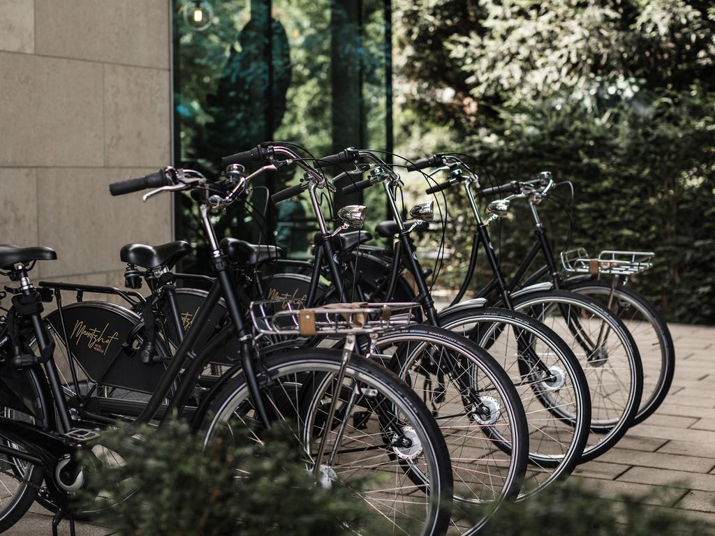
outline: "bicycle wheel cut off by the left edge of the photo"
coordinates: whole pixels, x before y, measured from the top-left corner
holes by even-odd
[[[6,362],[1,367],[10,366]],[[6,371],[2,370],[1,372],[3,372],[3,377],[6,379],[6,374],[4,374]],[[29,379],[31,381],[27,386],[34,386],[31,388],[37,389],[36,392],[39,392],[38,380],[34,372],[14,370],[11,373],[13,372],[14,374],[30,374]],[[35,398],[35,400],[41,399],[43,397],[40,397],[39,394]],[[6,419],[31,422],[38,426],[42,426],[44,422],[41,417],[35,417],[9,407],[1,407],[0,411],[2,412],[1,416]],[[43,411],[39,415],[46,415],[46,413]],[[18,450],[28,450],[22,445],[19,438],[11,437],[11,435],[4,433],[1,427],[0,445]],[[6,454],[0,454],[0,532],[8,530],[25,515],[25,512],[27,512],[37,496],[43,475],[44,470],[39,465],[18,460]]]

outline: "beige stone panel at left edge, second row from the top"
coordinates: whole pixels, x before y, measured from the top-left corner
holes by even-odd
[[[101,166],[102,66],[0,52],[0,167]]]

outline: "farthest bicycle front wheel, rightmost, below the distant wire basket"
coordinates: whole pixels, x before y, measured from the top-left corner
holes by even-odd
[[[643,397],[631,426],[644,422],[663,403],[675,374],[675,345],[667,322],[642,294],[623,285],[613,289],[612,297],[611,282],[599,279],[566,281],[566,289],[598,300],[631,332],[643,362]]]

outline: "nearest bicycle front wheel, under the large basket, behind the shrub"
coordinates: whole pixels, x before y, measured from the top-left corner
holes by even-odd
[[[264,391],[268,407],[294,427],[306,468],[319,467],[324,485],[339,480],[348,487],[353,482],[367,486],[356,497],[375,513],[370,526],[374,522],[379,528],[371,533],[443,534],[452,473],[433,417],[395,374],[363,357],[350,359],[337,386],[340,362],[341,352],[332,349],[292,350],[262,359],[271,386]],[[328,425],[332,402],[337,412]],[[212,415],[204,423],[207,440],[222,426],[233,435],[260,440],[252,432],[254,410],[243,374],[217,394],[207,415]]]

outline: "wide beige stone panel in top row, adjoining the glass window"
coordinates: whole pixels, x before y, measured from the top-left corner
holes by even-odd
[[[36,52],[169,69],[167,0],[35,0]]]

